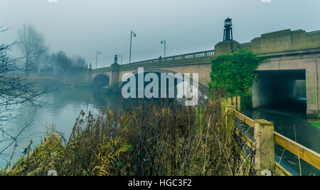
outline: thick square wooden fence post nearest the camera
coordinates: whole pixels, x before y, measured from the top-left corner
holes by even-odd
[[[264,119],[255,120],[255,167],[258,175],[268,169],[274,174],[274,125]]]

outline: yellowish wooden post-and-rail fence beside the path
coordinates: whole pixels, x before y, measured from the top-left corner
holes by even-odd
[[[255,155],[255,168],[262,172],[268,169],[272,174],[289,175],[292,174],[274,160],[274,143],[284,147],[289,152],[311,164],[312,166],[320,169],[320,155],[313,150],[310,150],[299,143],[284,137],[283,135],[274,132],[274,124],[269,121],[256,119],[253,120],[242,113],[240,113],[240,97],[227,98],[222,101],[222,109],[226,117],[226,123],[233,125],[235,128],[234,120],[238,118],[242,123],[247,124],[254,130],[254,139],[245,138],[245,143],[248,147],[254,148]],[[233,121],[233,122],[232,122]],[[228,128],[232,128],[228,126]]]

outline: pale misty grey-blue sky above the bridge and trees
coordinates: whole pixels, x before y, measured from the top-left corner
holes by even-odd
[[[82,55],[98,67],[115,54],[129,62],[213,50],[223,38],[223,21],[233,18],[233,37],[248,42],[262,33],[291,28],[320,30],[319,0],[0,0],[0,43],[17,40],[23,23],[44,35],[50,52]]]

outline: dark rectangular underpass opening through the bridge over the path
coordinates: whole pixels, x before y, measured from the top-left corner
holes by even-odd
[[[306,116],[306,71],[259,71],[252,85],[252,107]]]

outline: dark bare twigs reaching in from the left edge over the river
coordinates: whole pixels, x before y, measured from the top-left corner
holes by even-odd
[[[0,27],[1,31],[4,30]],[[13,133],[4,123],[14,118],[13,113],[21,108],[29,108],[32,114],[45,104],[41,96],[52,91],[44,85],[30,82],[23,77],[23,69],[17,66],[16,59],[8,53],[11,47],[17,44],[0,45],[0,143],[6,142],[6,145],[0,146],[0,158],[11,145],[17,143],[21,133],[31,125],[28,123],[18,133]]]

